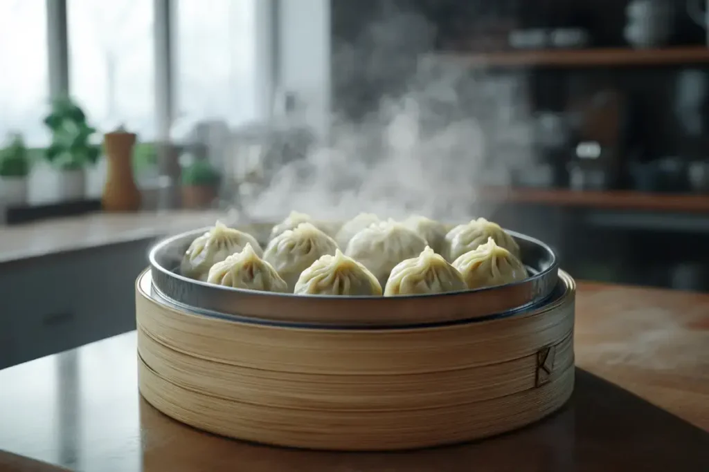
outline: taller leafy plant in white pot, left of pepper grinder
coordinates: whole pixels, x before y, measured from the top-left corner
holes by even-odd
[[[57,171],[57,200],[81,200],[86,193],[86,167],[101,154],[100,146],[91,143],[96,129],[70,98],[54,100],[44,123],[52,132],[45,158]]]

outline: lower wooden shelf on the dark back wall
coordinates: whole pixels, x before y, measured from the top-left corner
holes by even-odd
[[[703,213],[709,215],[709,195],[682,195],[630,190],[581,191],[486,188],[483,200],[518,204],[555,205],[647,212]]]

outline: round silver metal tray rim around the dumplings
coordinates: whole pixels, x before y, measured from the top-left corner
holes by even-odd
[[[234,225],[267,241],[272,223]],[[418,327],[438,323],[484,321],[512,316],[552,297],[559,279],[557,257],[549,246],[508,231],[520,246],[530,274],[523,282],[446,294],[400,297],[335,297],[277,294],[234,289],[191,280],[179,274],[182,255],[208,228],[164,239],[150,251],[152,295],[181,311],[234,321],[323,328]],[[265,246],[265,245],[264,245]]]

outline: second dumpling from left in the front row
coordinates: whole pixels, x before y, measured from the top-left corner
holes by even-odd
[[[303,270],[294,293],[299,295],[381,296],[381,285],[367,267],[337,249]]]

